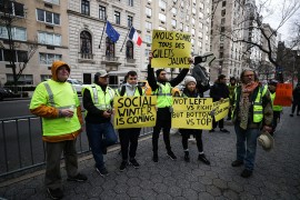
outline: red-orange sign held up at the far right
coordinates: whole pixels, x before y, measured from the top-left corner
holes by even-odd
[[[274,106],[290,107],[292,100],[292,84],[278,83],[276,87]]]

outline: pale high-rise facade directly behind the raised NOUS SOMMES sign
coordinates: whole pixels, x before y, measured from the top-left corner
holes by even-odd
[[[191,33],[191,56],[210,51],[211,0],[144,0],[141,8],[143,77],[147,77],[153,29]],[[173,77],[179,69],[167,71]]]

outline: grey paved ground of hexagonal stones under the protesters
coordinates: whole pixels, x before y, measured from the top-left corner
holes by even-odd
[[[300,117],[290,118],[286,110],[276,134],[276,148],[266,152],[258,147],[256,170],[249,179],[240,177],[242,167],[230,166],[236,156],[236,136],[232,126],[227,128],[230,134],[203,133],[210,167],[197,160],[196,144],[191,143],[191,162],[186,163],[179,136],[171,138],[178,160],[167,158],[160,140],[160,160],[153,163],[148,139],[138,149],[138,170],[130,167],[119,172],[117,150],[107,156],[110,174],[106,178],[94,171],[90,157],[79,164],[88,174],[87,182],[68,182],[63,171],[64,199],[300,199]],[[49,199],[43,174],[37,174],[0,188],[0,199]]]

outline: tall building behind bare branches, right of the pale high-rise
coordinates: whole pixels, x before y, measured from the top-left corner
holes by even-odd
[[[217,59],[210,70],[211,80],[220,73],[239,77],[243,69],[244,0],[213,0],[211,48]]]

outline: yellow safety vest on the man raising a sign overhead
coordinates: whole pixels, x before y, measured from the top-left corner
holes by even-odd
[[[154,96],[158,97],[158,108],[166,108],[172,106],[172,87],[170,82],[166,82],[166,84],[159,83],[159,88],[153,92]]]

